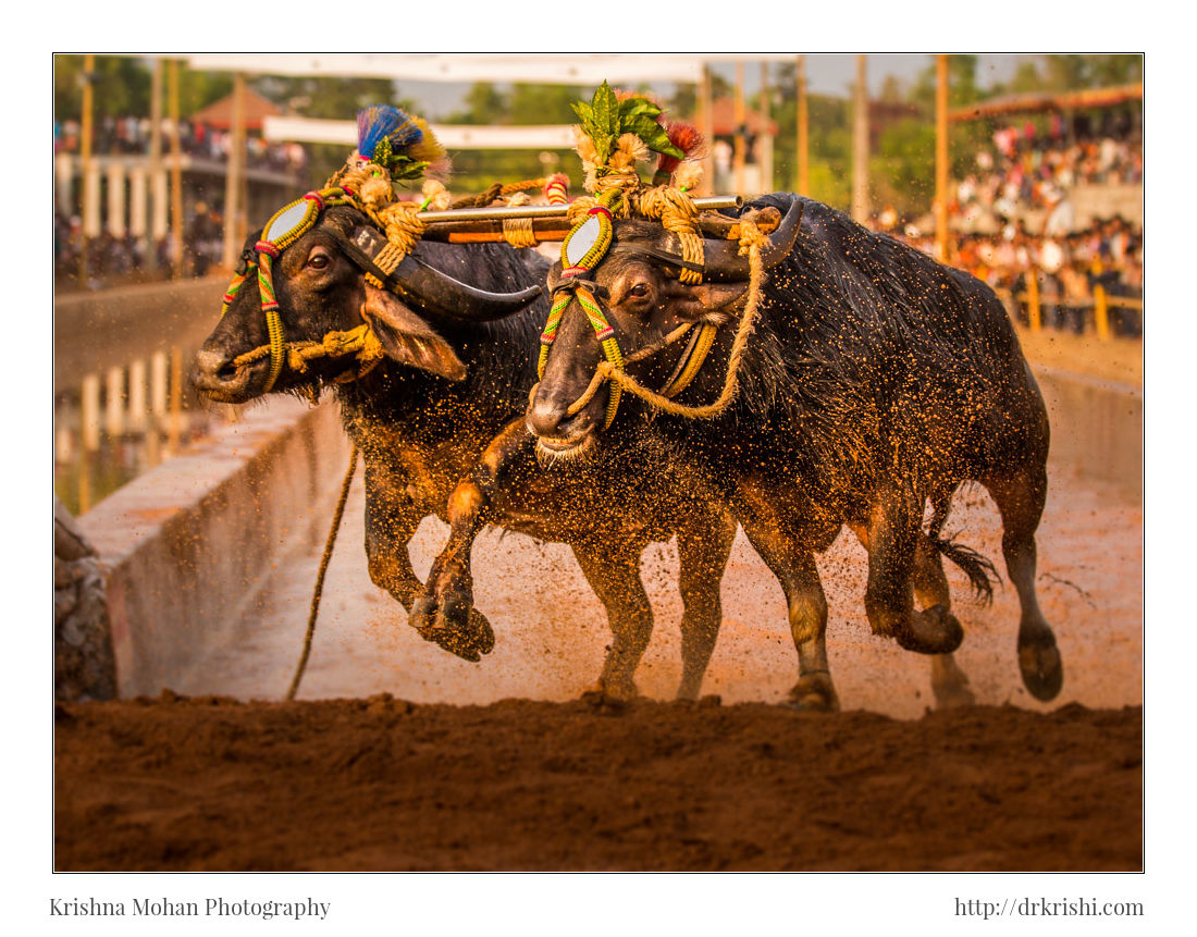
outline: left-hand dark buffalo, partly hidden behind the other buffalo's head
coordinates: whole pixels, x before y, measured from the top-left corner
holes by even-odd
[[[493,634],[473,609],[468,550],[438,560],[454,590],[430,601],[421,598],[407,543],[424,517],[452,522],[472,498],[485,495],[486,511],[473,512],[478,522],[572,547],[606,606],[614,638],[600,688],[630,695],[652,629],[640,554],[649,542],[676,534],[685,603],[679,695],[697,696],[721,621],[719,583],[735,522],[693,498],[676,475],[639,471],[643,456],[632,450],[582,473],[540,470],[523,410],[547,311],[540,288],[546,260],[506,245],[424,242],[395,272],[390,288],[381,290],[367,282],[360,261],[351,260],[353,245],[370,242],[372,231],[354,208],[328,208],[274,261],[273,280],[293,347],[367,322],[387,357],[360,376],[342,358],[312,357],[303,370],[288,363],[272,390],[335,389],[345,428],[365,463],[365,548],[373,582],[405,608],[415,607],[425,638],[479,659],[493,646]],[[247,242],[250,256],[254,241]],[[529,291],[541,298],[529,304]],[[196,388],[230,403],[259,396],[269,363],[235,359],[267,341],[260,291],[247,280],[196,355]],[[499,463],[496,486],[487,468]]]

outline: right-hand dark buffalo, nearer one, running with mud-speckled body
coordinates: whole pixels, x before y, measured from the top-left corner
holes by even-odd
[[[827,604],[813,554],[843,523],[869,553],[873,631],[922,652],[959,645],[942,565],[920,554],[930,544],[988,588],[980,558],[940,535],[953,493],[974,480],[1002,516],[1002,549],[1022,607],[1023,681],[1035,698],[1053,698],[1061,659],[1034,589],[1047,416],[1001,303],[968,274],[819,202],[774,194],[746,208],[784,218],[762,250],[767,275],[739,393],[713,419],[657,413],[649,425],[672,448],[674,464],[699,471],[718,492],[780,579],[800,657],[796,694],[834,699],[824,646]],[[674,236],[660,225],[618,221],[591,279],[625,355],[686,322],[725,323],[698,379],[678,398],[703,404],[723,388],[749,264],[735,243],[707,239],[703,282],[686,285],[676,276],[680,261]],[[560,279],[558,264],[549,286]],[[680,343],[670,346],[628,372],[661,387],[680,354]],[[573,302],[527,412],[545,452],[595,449],[607,394],[569,410],[600,360],[594,329]],[[637,410],[621,404],[612,431]],[[932,519],[923,535],[928,503]]]

